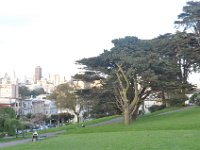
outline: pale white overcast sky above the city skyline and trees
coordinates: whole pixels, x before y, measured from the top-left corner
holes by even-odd
[[[174,33],[187,0],[0,0],[0,74],[68,78],[74,61],[97,56],[124,36]]]

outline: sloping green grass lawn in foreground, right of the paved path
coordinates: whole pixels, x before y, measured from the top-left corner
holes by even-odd
[[[126,127],[66,127],[58,137],[2,150],[199,150],[200,107],[163,110],[139,117]]]

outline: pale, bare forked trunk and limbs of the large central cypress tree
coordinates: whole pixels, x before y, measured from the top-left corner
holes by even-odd
[[[151,91],[146,87],[142,88],[137,81],[137,76],[134,76],[134,97],[132,100],[128,99],[128,89],[132,87],[130,87],[129,80],[120,65],[118,65],[118,71],[116,75],[120,85],[120,88],[116,90],[118,92],[116,96],[118,97],[118,106],[120,106],[120,109],[123,112],[124,124],[129,125],[131,122],[136,120],[139,107],[144,102],[144,99],[149,96]]]

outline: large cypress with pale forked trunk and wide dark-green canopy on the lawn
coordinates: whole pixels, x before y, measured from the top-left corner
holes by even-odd
[[[156,69],[161,61],[149,41],[125,37],[112,43],[114,47],[110,51],[78,62],[116,79],[113,91],[128,125],[136,119],[139,107],[156,85],[159,74]]]

